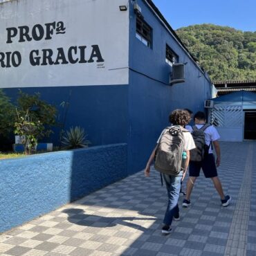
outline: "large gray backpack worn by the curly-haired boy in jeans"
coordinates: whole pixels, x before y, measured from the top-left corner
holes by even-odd
[[[188,131],[181,126],[165,128],[156,148],[155,169],[163,174],[177,175],[181,172],[182,154],[184,151],[183,132]]]

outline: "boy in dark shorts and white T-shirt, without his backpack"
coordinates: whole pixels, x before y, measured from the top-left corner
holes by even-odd
[[[194,129],[202,129],[205,125],[206,118],[205,113],[202,111],[198,111],[194,115],[194,123],[195,126]],[[193,131],[192,127],[187,126],[186,129]],[[186,198],[183,200],[183,207],[187,208],[191,205],[190,203],[190,195],[192,193],[192,189],[194,187],[194,183],[196,182],[196,178],[199,176],[200,170],[202,168],[203,174],[205,178],[212,179],[212,183],[214,184],[215,189],[219,193],[219,196],[221,197],[221,204],[222,206],[228,206],[231,197],[229,195],[226,195],[223,193],[223,188],[221,185],[221,181],[219,180],[218,174],[217,174],[217,167],[219,167],[221,163],[221,149],[219,147],[219,134],[215,127],[210,125],[204,130],[205,134],[205,144],[208,145],[209,151],[206,152],[204,155],[203,161],[201,162],[195,162],[190,161],[190,168],[189,168],[189,179],[187,181],[187,190],[186,190]],[[217,154],[217,158],[215,161],[212,145],[214,146],[215,152]],[[208,153],[208,154],[207,154]]]

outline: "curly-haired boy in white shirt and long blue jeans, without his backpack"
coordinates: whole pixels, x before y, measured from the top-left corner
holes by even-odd
[[[194,140],[190,134],[190,132],[186,132],[183,127],[190,122],[190,114],[188,111],[183,109],[176,109],[172,111],[169,116],[170,123],[172,127],[176,127],[176,129],[180,129],[183,134],[184,139],[184,152],[187,155],[184,170],[179,170],[177,174],[169,175],[163,173],[163,179],[165,180],[165,185],[167,188],[167,196],[168,196],[168,204],[165,212],[165,218],[163,220],[163,234],[169,234],[172,231],[171,224],[172,219],[179,220],[179,192],[181,190],[181,181],[184,179],[186,171],[188,169],[188,163],[190,161],[190,149],[195,148]],[[168,127],[168,130],[172,129],[172,127]],[[161,137],[167,129],[164,129],[161,133],[161,136],[158,138],[157,143],[161,140]],[[147,161],[147,165],[145,167],[145,176],[149,176],[150,173],[150,165],[154,160],[156,155],[156,150],[158,149],[158,145],[153,149],[152,154],[149,157],[149,161]],[[168,149],[171,150],[171,147]]]

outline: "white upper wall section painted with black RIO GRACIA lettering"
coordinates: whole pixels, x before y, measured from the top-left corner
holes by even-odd
[[[120,5],[126,4],[127,0],[19,0],[0,3],[0,88],[128,84],[129,11],[119,10]],[[46,39],[44,24],[54,21],[56,27],[57,22],[63,22],[65,29],[61,32],[64,33],[56,34],[53,30],[51,39]],[[44,37],[38,41],[19,42],[19,30],[26,30],[19,27],[28,26],[28,37],[31,37],[37,24],[44,29]],[[39,26],[35,26],[34,32],[40,37],[43,34],[39,33]],[[7,28],[10,35],[14,35],[17,29],[17,35],[8,40]],[[21,41],[22,38],[26,39],[21,37]],[[92,52],[96,55],[92,45],[98,46],[104,61],[97,62],[98,57],[93,57],[91,63],[77,61],[71,64],[68,61],[71,46],[86,46],[84,60],[88,61]],[[61,64],[63,53],[57,48],[63,48],[68,64]],[[42,49],[53,51],[51,60],[55,64],[47,62],[47,65],[42,65]],[[33,53],[34,57],[41,57],[40,64],[36,66],[30,61],[33,50],[39,51],[38,55]],[[71,48],[70,53],[73,60],[77,57],[81,60],[80,54],[75,54],[75,48]],[[58,54],[60,64],[56,62]],[[15,67],[10,62],[8,66],[8,56],[16,66],[19,65]],[[37,60],[34,57],[32,62]]]

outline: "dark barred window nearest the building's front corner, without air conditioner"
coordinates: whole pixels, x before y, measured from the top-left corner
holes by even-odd
[[[136,37],[145,44],[152,47],[152,28],[140,17],[136,17]]]

